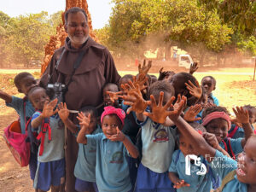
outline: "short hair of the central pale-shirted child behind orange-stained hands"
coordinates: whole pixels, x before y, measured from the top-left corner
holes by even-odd
[[[148,98],[150,95],[159,95],[160,91],[163,91],[164,93],[170,93],[172,96],[175,95],[175,90],[168,81],[156,81],[154,84],[151,84],[148,89]]]

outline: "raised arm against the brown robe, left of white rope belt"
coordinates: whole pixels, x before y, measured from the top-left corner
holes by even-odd
[[[67,129],[73,133],[77,133],[79,131],[79,128],[70,119],[68,119],[69,110],[67,109],[66,102],[64,102],[64,104],[61,102],[58,105],[58,109],[58,114],[64,125],[67,126]]]

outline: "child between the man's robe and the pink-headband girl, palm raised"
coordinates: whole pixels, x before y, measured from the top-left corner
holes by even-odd
[[[73,132],[76,136],[79,133],[79,127],[74,125],[73,122],[68,119],[69,110],[66,103],[60,103],[58,105],[59,115],[63,123],[67,128]],[[90,115],[90,122],[88,125],[88,134],[96,135],[102,132],[102,129],[96,123],[97,110],[94,107],[84,107],[80,110],[78,119],[83,121],[85,116]],[[89,144],[84,145],[79,143],[78,159],[74,168],[74,176],[76,177],[75,189],[79,192],[90,191],[91,186],[94,187],[96,192],[98,191],[96,186],[96,146]]]

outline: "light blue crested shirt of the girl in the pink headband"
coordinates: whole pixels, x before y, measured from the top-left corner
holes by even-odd
[[[131,190],[128,151],[122,142],[112,142],[103,133],[86,135],[87,144],[96,146],[96,183],[99,191]]]

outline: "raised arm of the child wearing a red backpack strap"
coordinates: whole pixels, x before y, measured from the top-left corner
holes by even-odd
[[[31,122],[32,128],[38,128],[38,126],[42,124],[44,118],[49,118],[50,116],[58,112],[58,109],[54,110],[57,102],[58,100],[57,98],[55,98],[55,100],[51,102],[44,103],[43,112],[40,113],[40,115],[37,118],[32,119],[32,122]]]

